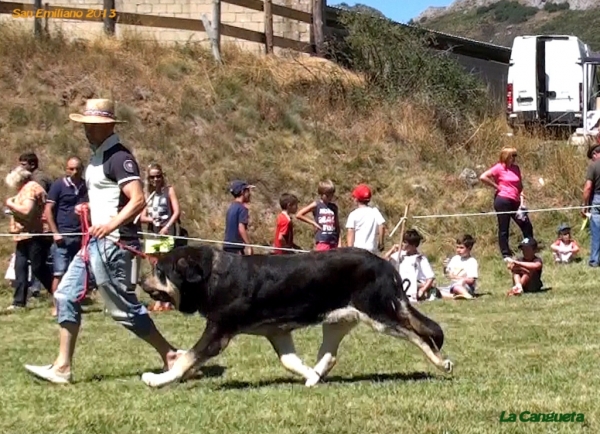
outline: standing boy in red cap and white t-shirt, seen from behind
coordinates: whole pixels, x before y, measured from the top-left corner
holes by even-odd
[[[365,184],[352,191],[356,208],[346,222],[346,242],[348,247],[358,247],[377,254],[383,250],[385,219],[377,208],[369,206],[371,189]]]

